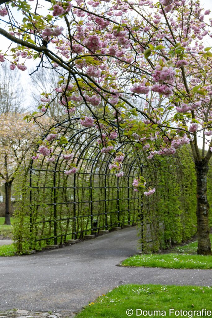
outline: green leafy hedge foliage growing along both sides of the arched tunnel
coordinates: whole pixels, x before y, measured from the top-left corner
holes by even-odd
[[[89,156],[89,153],[88,153]],[[196,176],[194,163],[189,147],[182,147],[174,156],[157,156],[153,160],[145,160],[143,157],[143,175],[148,181],[148,186],[156,188],[154,195],[146,197],[141,193],[132,191],[131,184],[135,171],[131,171],[128,178],[120,178],[119,186],[123,187],[119,192],[119,220],[117,214],[117,178],[107,176],[106,191],[108,202],[105,203],[104,176],[93,176],[93,184],[100,185],[100,189],[93,189],[93,200],[101,199],[101,202],[93,204],[93,218],[97,218],[98,226],[105,229],[105,204],[108,215],[108,229],[113,226],[132,224],[138,220],[140,233],[140,243],[144,252],[158,251],[169,246],[190,239],[196,233]],[[48,165],[45,166],[48,170]],[[73,200],[72,176],[67,178],[64,175],[64,167],[61,163],[58,173],[57,185],[64,187],[56,191],[57,203],[70,202]],[[81,169],[87,169],[82,164]],[[100,162],[96,171],[102,171]],[[89,169],[88,169],[89,171]],[[208,177],[208,197],[212,203],[212,165],[209,169]],[[29,197],[29,174],[28,171],[21,172],[16,181],[16,212],[14,215],[14,239],[18,253],[26,253],[30,249],[41,250],[45,245],[53,244],[53,202],[54,192],[52,187],[52,172],[33,172],[32,184],[38,188],[32,191],[32,205]],[[90,200],[90,177],[88,175],[78,175],[77,179],[77,200]],[[130,200],[127,200],[127,185],[130,183]],[[49,186],[43,189],[42,186]],[[82,189],[81,189],[82,187]],[[87,187],[84,189],[83,187]],[[138,199],[135,199],[136,196]],[[128,205],[129,204],[129,205]],[[143,204],[143,206],[142,206]],[[61,204],[57,207],[57,236],[58,244],[64,243],[67,239],[74,238],[73,227],[73,205]],[[128,209],[130,208],[130,222]],[[32,212],[30,230],[30,211]],[[102,215],[95,216],[103,212]],[[90,203],[77,204],[76,230],[77,238],[83,238],[85,234],[91,233],[90,226]],[[87,218],[85,216],[88,216]],[[83,218],[82,218],[83,216]],[[212,217],[210,212],[210,225]],[[80,232],[86,231],[86,232]],[[45,240],[45,237],[51,239]],[[39,239],[41,239],[39,241]]]

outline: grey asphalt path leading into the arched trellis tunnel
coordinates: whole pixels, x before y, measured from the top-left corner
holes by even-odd
[[[0,311],[79,311],[127,283],[212,285],[212,270],[116,266],[136,254],[136,228],[37,254],[0,257]]]

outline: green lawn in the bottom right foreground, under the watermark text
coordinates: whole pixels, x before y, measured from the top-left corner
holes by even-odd
[[[161,315],[156,313],[151,315],[151,311],[154,310],[165,311],[166,316],[169,316],[170,308],[187,311],[204,308],[211,310],[211,295],[212,287],[122,285],[90,303],[76,315],[76,318],[123,318],[127,317],[126,311],[129,308],[133,310],[131,317],[136,317],[137,308],[150,311],[150,315],[143,313],[140,317],[160,317]],[[129,313],[132,312],[129,311]],[[140,313],[139,310],[138,314]],[[170,317],[176,317],[176,315],[171,313]]]

